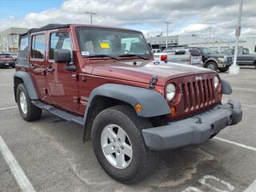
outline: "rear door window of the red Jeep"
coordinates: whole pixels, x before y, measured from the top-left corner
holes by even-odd
[[[32,36],[31,58],[45,58],[45,40],[45,34],[37,34]]]

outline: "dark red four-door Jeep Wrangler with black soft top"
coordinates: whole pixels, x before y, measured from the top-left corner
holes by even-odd
[[[123,183],[150,173],[157,151],[206,142],[242,119],[222,104],[230,84],[213,70],[153,60],[142,33],[50,24],[20,37],[14,94],[22,118],[42,110],[76,122],[107,174]]]

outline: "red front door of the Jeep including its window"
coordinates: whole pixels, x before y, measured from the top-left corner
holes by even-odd
[[[65,63],[54,62],[54,50],[70,50],[72,43],[68,30],[51,31],[49,35],[48,66],[46,68],[46,84],[50,102],[66,110],[78,109],[78,80],[76,72],[65,69]],[[71,56],[72,57],[72,56]],[[74,58],[73,58],[74,59]]]

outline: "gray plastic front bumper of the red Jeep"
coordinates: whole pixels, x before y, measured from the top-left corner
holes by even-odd
[[[142,134],[150,150],[171,150],[206,142],[226,126],[241,120],[240,102],[229,100],[202,114],[170,122],[167,126],[142,130]]]

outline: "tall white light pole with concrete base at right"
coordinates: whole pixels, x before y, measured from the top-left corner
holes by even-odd
[[[233,65],[230,66],[230,74],[239,74],[239,71],[240,71],[240,67],[237,65],[237,57],[238,57],[239,36],[241,34],[242,2],[243,0],[240,0],[239,13],[238,13],[238,26],[235,30],[236,42],[234,47],[234,62],[233,62]]]

